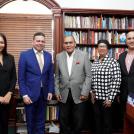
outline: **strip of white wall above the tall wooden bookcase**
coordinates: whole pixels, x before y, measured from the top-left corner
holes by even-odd
[[[134,0],[55,0],[62,8],[134,10]]]

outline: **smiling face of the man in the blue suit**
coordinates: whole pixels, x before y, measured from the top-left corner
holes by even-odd
[[[45,37],[43,36],[35,36],[35,39],[32,41],[32,45],[35,50],[41,52],[45,47]]]

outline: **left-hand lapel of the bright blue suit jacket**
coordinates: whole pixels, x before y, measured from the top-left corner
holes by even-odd
[[[36,55],[35,55],[35,52],[33,49],[31,49],[30,55],[31,55],[31,59],[33,61],[33,66],[35,66],[35,69],[37,70],[38,73],[41,73],[39,63],[37,61],[37,58],[36,58]]]

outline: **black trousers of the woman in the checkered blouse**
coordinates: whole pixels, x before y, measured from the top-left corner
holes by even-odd
[[[95,134],[112,134],[112,106],[105,108],[104,100],[95,100],[93,105]]]

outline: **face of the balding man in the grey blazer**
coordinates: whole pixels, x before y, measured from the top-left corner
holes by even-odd
[[[64,38],[63,48],[66,50],[69,56],[74,52],[76,42],[72,36],[67,36]]]

